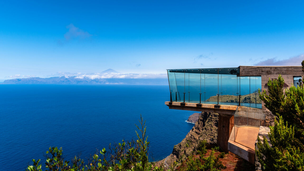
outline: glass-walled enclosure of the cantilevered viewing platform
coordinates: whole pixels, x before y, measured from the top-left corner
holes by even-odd
[[[262,108],[261,76],[240,76],[240,68],[168,69],[170,101]]]

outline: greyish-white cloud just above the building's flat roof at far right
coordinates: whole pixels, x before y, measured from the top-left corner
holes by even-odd
[[[278,60],[277,58],[269,58],[256,63],[256,66],[299,66],[304,60],[304,54],[291,57],[288,59]]]

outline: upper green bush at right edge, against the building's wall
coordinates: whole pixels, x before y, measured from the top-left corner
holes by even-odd
[[[294,126],[295,141],[304,150],[304,86],[291,86],[283,92],[284,79],[281,75],[278,79],[270,80],[267,83],[268,91],[262,93],[259,90],[259,97],[265,103],[272,114],[282,116],[284,122]]]

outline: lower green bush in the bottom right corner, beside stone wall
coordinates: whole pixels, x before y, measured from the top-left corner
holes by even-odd
[[[257,137],[258,149],[255,150],[262,170],[304,170],[304,153],[296,145],[294,127],[284,124],[282,117],[275,120],[275,126],[270,127],[268,134],[270,143],[264,137],[263,143]]]

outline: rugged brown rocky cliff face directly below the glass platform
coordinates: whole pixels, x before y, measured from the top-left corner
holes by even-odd
[[[168,164],[185,160],[192,154],[199,141],[206,140],[208,144],[216,144],[218,117],[217,113],[203,112],[192,130],[178,145],[174,146],[171,155],[168,157]]]

